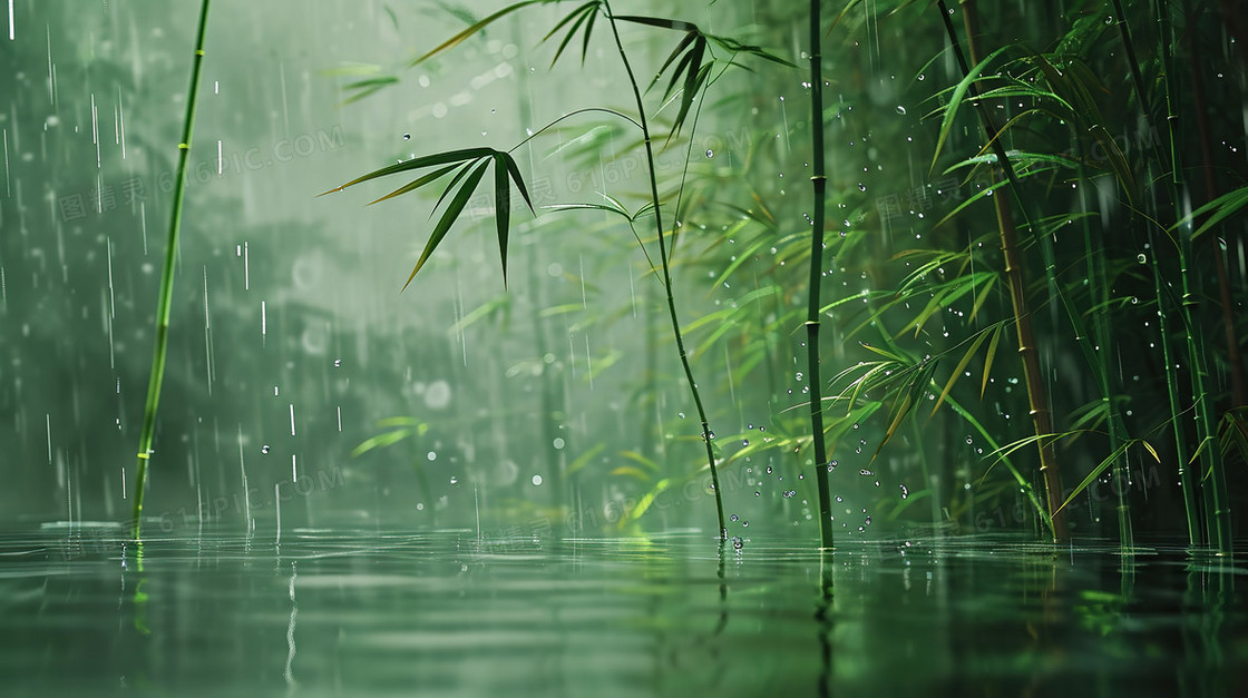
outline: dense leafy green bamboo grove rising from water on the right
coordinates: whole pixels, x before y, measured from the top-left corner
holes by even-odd
[[[466,17],[411,61],[539,12],[548,31],[520,36],[525,51],[570,80],[613,56],[628,76],[619,103],[569,103],[509,150],[464,142],[338,187],[414,176],[392,198],[449,182],[432,232],[417,231],[409,284],[468,227],[478,187],[495,203],[504,274],[513,229],[540,238],[587,212],[613,217],[603,233],[622,254],[640,247],[646,317],[666,325],[646,320],[648,347],[679,359],[700,424],[676,440],[700,445],[661,446],[680,423],[628,451],[587,436],[557,466],[554,506],[599,467],[633,492],[618,526],[645,526],[664,492],[709,474],[719,538],[739,541],[724,511],[782,469],[775,510],[817,519],[824,546],[874,517],[1231,551],[1248,452],[1248,37],[1233,12],[1197,0],[623,5],[518,2]],[[358,80],[347,98],[401,84]],[[639,153],[645,186],[517,222],[535,176],[517,148],[554,148],[543,138],[578,122],[594,128],[563,156],[602,157],[609,138],[613,157]],[[715,133],[748,137],[731,158],[701,157]],[[651,349],[648,365],[661,361]],[[636,376],[638,405],[658,374]],[[744,386],[768,395],[765,433],[730,399]],[[542,394],[545,419],[558,390]]]

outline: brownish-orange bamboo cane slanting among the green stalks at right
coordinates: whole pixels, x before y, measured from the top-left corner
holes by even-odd
[[[962,0],[962,5],[967,11],[967,15],[972,16],[972,7],[968,7],[971,2]],[[946,6],[945,0],[938,0],[937,6],[940,7],[941,19],[945,22],[945,31],[948,34],[958,67],[962,70],[962,75],[970,75],[971,67],[967,65],[966,56],[962,54],[961,45],[957,40],[957,31],[953,29],[952,20],[950,20],[948,7]],[[973,56],[973,19],[971,22],[972,24],[968,27],[970,36],[967,36],[967,42]],[[1015,176],[1010,158],[1006,155],[1005,147],[1001,145],[1001,140],[995,137],[997,130],[993,126],[992,118],[987,113],[982,100],[980,100],[978,87],[973,84],[971,85],[971,96],[977,106],[986,137],[992,141],[997,160],[1001,163],[1002,170],[1005,170],[1010,176],[1011,183],[1013,184]],[[1050,437],[1045,437],[1052,434],[1053,429],[1048,414],[1048,391],[1045,388],[1045,383],[1040,373],[1040,351],[1036,345],[1035,330],[1031,325],[1031,310],[1027,304],[1026,279],[1023,277],[1022,265],[1020,264],[1018,236],[1015,231],[1013,213],[1008,197],[996,196],[992,197],[992,199],[997,213],[997,227],[1001,232],[1001,252],[1005,256],[1005,274],[1010,282],[1010,300],[1013,307],[1015,330],[1018,338],[1018,354],[1022,358],[1023,383],[1027,386],[1028,409],[1031,413],[1032,425],[1036,430],[1036,436],[1040,437],[1036,441],[1040,450],[1040,475],[1045,482],[1048,516],[1051,517],[1053,525],[1053,538],[1056,541],[1065,541],[1070,533],[1066,526],[1066,511],[1060,509],[1062,505],[1062,479],[1061,471],[1057,469],[1053,441]]]

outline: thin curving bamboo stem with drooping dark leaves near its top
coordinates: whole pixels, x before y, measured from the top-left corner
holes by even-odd
[[[624,64],[624,71],[628,72],[629,86],[633,88],[633,98],[636,102],[638,123],[641,126],[641,140],[645,142],[645,163],[650,178],[650,201],[654,203],[654,226],[659,236],[659,261],[663,268],[663,288],[668,297],[668,314],[671,318],[671,332],[676,339],[680,365],[685,370],[685,380],[689,383],[689,391],[693,394],[694,406],[698,409],[698,419],[701,421],[701,436],[706,446],[706,465],[710,467],[711,487],[715,490],[715,511],[719,515],[718,537],[723,542],[728,540],[728,526],[724,524],[724,497],[719,486],[719,469],[715,466],[715,450],[711,445],[711,439],[715,436],[706,420],[706,410],[698,391],[698,381],[694,380],[693,369],[689,366],[689,355],[685,351],[685,342],[680,334],[680,320],[676,317],[676,300],[671,293],[671,269],[668,263],[666,236],[664,234],[663,214],[659,207],[659,182],[655,177],[654,143],[651,142],[650,127],[645,117],[645,103],[641,101],[641,90],[638,87],[636,76],[633,74],[628,54],[624,52],[624,44],[620,41],[619,29],[615,26],[615,12],[612,10],[612,4],[608,0],[603,0],[603,6],[607,9],[607,16],[612,25],[612,36],[615,39],[615,49],[619,52],[620,61]]]

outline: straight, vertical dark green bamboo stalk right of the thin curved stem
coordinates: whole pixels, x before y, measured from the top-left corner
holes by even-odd
[[[824,270],[824,207],[827,177],[824,172],[824,75],[820,65],[820,1],[810,0],[810,133],[814,143],[815,209],[810,236],[810,298],[806,308],[806,376],[810,380],[810,433],[815,446],[815,484],[819,487],[819,542],[832,547],[832,501],[827,486],[827,449],[824,444],[822,381],[819,378],[819,282]]]

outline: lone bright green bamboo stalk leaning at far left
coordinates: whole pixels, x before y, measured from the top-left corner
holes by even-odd
[[[186,117],[182,120],[182,140],[177,143],[177,177],[173,179],[173,211],[168,219],[168,244],[165,248],[165,269],[161,272],[160,300],[156,307],[156,347],[152,350],[152,370],[147,380],[144,429],[139,436],[139,474],[135,477],[135,510],[131,528],[135,540],[139,540],[142,533],[147,461],[151,460],[152,440],[156,435],[156,411],[160,406],[160,389],[161,383],[165,380],[165,360],[168,354],[168,315],[173,298],[173,267],[177,261],[177,238],[182,222],[186,161],[191,155],[191,132],[195,127],[195,102],[200,93],[200,70],[203,66],[203,35],[207,24],[208,0],[202,0],[200,5],[200,27],[195,39],[195,57],[191,64],[191,86],[186,96]]]

